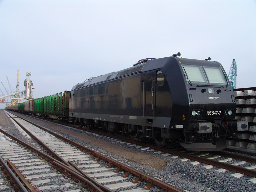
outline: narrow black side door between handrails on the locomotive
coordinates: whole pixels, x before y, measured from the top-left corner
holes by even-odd
[[[154,72],[145,74],[144,94],[145,94],[145,116],[148,123],[153,123],[155,114],[155,77]]]

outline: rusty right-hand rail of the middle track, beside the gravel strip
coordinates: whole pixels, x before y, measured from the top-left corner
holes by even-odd
[[[145,173],[142,173],[142,172],[138,171],[137,169],[133,169],[133,168],[131,168],[131,167],[129,167],[129,166],[123,164],[123,163],[120,163],[120,162],[118,162],[118,161],[115,161],[115,160],[111,159],[111,158],[108,157],[108,156],[105,156],[105,155],[103,155],[103,154],[101,154],[101,153],[98,153],[98,152],[96,152],[96,151],[94,151],[94,150],[92,150],[92,149],[89,149],[89,148],[87,148],[87,147],[85,147],[85,146],[83,146],[83,145],[80,145],[80,144],[78,144],[78,143],[76,143],[76,142],[73,142],[73,141],[71,141],[70,139],[65,138],[65,137],[62,137],[62,136],[58,135],[57,133],[54,133],[54,132],[52,132],[52,131],[50,131],[50,130],[48,130],[48,129],[45,129],[45,128],[43,128],[43,127],[41,127],[41,126],[39,126],[39,125],[37,125],[37,124],[35,124],[35,123],[29,121],[29,120],[26,120],[26,119],[24,119],[24,118],[22,118],[22,117],[20,117],[20,116],[18,116],[18,117],[19,117],[20,119],[23,119],[23,120],[25,120],[25,121],[27,121],[27,122],[33,124],[34,126],[40,128],[40,129],[42,129],[42,130],[48,132],[48,133],[51,133],[52,135],[54,135],[54,136],[56,136],[56,137],[62,139],[63,141],[66,141],[67,143],[69,143],[69,144],[71,144],[71,145],[74,145],[74,146],[76,146],[77,148],[82,149],[82,150],[84,150],[84,151],[90,153],[91,156],[90,156],[89,158],[97,157],[95,161],[98,161],[98,160],[102,159],[104,162],[109,162],[110,165],[107,166],[107,168],[111,168],[112,166],[116,166],[116,167],[118,167],[118,168],[116,169],[116,172],[121,171],[122,169],[125,170],[125,171],[126,171],[126,174],[123,175],[123,177],[127,177],[128,175],[133,174],[133,175],[137,176],[137,178],[134,180],[134,182],[138,182],[138,181],[141,180],[141,179],[146,180],[146,181],[148,182],[148,184],[147,184],[147,186],[145,187],[145,189],[147,189],[147,190],[150,189],[153,185],[156,185],[156,186],[162,188],[165,192],[168,192],[168,191],[169,191],[169,192],[184,192],[183,190],[181,190],[181,189],[179,189],[179,188],[176,188],[176,187],[174,187],[174,186],[171,186],[170,184],[165,183],[165,182],[163,182],[163,181],[161,181],[161,180],[159,180],[159,179],[157,179],[157,178],[154,178],[154,177],[152,177],[152,176],[150,176],[150,175],[147,175],[147,174],[145,174]]]

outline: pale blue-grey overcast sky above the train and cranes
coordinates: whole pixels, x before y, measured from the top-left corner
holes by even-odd
[[[237,88],[256,87],[255,10],[255,0],[0,0],[0,82],[15,89],[19,70],[24,90],[30,71],[39,98],[180,52],[227,74],[235,59]]]

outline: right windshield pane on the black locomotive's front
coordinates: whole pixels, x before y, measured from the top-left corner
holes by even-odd
[[[226,79],[221,68],[216,67],[204,67],[204,70],[208,76],[210,84],[225,85]]]

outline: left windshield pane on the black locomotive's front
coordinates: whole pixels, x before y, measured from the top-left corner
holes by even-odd
[[[182,66],[184,68],[184,73],[187,74],[186,77],[190,80],[191,83],[208,84],[201,66],[196,66],[196,65],[182,65]],[[189,83],[188,79],[187,81]]]

